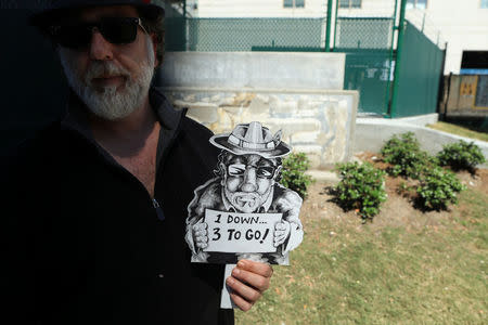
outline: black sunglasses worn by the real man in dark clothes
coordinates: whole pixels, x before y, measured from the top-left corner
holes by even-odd
[[[91,42],[93,30],[113,44],[128,44],[136,40],[138,27],[142,26],[138,17],[105,17],[94,23],[77,23],[51,26],[50,34],[55,42],[64,48],[86,49]]]

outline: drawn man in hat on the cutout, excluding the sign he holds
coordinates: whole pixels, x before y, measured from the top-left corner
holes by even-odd
[[[304,231],[298,218],[301,198],[279,183],[282,157],[291,148],[281,142],[281,132],[274,136],[268,128],[253,121],[239,125],[230,134],[217,134],[210,143],[221,148],[217,177],[195,190],[189,205],[185,239],[193,252],[192,261],[234,263],[241,258],[272,264],[287,264],[287,252],[303,239]],[[205,210],[243,213],[282,213],[274,225],[273,246],[270,253],[205,252],[208,246]]]

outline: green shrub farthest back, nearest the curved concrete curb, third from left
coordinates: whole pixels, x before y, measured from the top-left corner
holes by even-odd
[[[423,170],[435,161],[427,153],[421,151],[419,141],[413,132],[407,132],[399,136],[395,134],[381,151],[385,162],[393,167],[388,170],[393,176],[404,176],[418,179]]]

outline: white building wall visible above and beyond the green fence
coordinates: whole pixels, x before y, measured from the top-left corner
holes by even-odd
[[[326,0],[305,0],[305,8],[283,8],[283,0],[198,0],[200,17],[323,17]],[[399,4],[400,0],[398,0]],[[362,0],[360,9],[339,9],[338,16],[390,17],[395,0]],[[335,11],[335,9],[334,9]],[[424,13],[426,15],[424,22]],[[488,9],[480,0],[428,0],[425,11],[407,18],[434,42],[448,42],[445,74],[459,74],[463,51],[488,51]]]

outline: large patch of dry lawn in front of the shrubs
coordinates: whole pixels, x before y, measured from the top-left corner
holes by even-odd
[[[486,211],[488,195],[466,190],[441,227],[303,216],[292,265],[236,324],[488,324]]]

